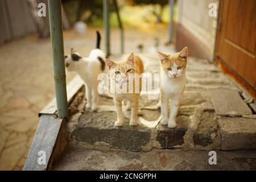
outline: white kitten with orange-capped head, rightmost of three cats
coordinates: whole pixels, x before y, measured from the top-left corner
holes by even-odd
[[[180,52],[166,55],[158,52],[161,61],[160,67],[160,101],[162,125],[170,128],[177,126],[176,115],[180,99],[185,89],[188,48]],[[170,115],[168,114],[169,100],[171,100]]]

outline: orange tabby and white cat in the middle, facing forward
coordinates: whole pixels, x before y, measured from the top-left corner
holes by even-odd
[[[141,92],[142,85],[141,79],[139,79],[139,84],[135,85],[134,77],[130,76],[136,74],[139,76],[144,72],[141,58],[132,52],[128,57],[121,61],[106,59],[106,64],[110,69],[110,79],[112,79],[115,84],[125,85],[127,88],[127,92],[114,93],[114,105],[117,112],[117,121],[115,121],[115,126],[123,126],[123,100],[129,101],[131,106],[131,118],[129,125],[138,125],[139,94]],[[132,89],[129,89],[129,83],[131,82],[133,87]],[[136,88],[138,86],[139,88]],[[138,92],[136,90],[138,90]]]

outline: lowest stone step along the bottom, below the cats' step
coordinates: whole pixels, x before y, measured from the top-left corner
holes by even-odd
[[[217,164],[210,165],[208,151],[160,150],[88,150],[69,146],[53,170],[253,170],[256,151],[217,151]]]

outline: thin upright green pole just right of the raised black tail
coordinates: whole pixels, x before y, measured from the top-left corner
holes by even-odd
[[[109,0],[104,0],[104,27],[105,27],[105,47],[106,55],[110,55],[110,45],[109,45]]]

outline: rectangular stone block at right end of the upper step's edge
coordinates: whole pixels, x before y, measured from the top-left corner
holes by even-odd
[[[221,149],[255,149],[256,119],[220,118]]]

